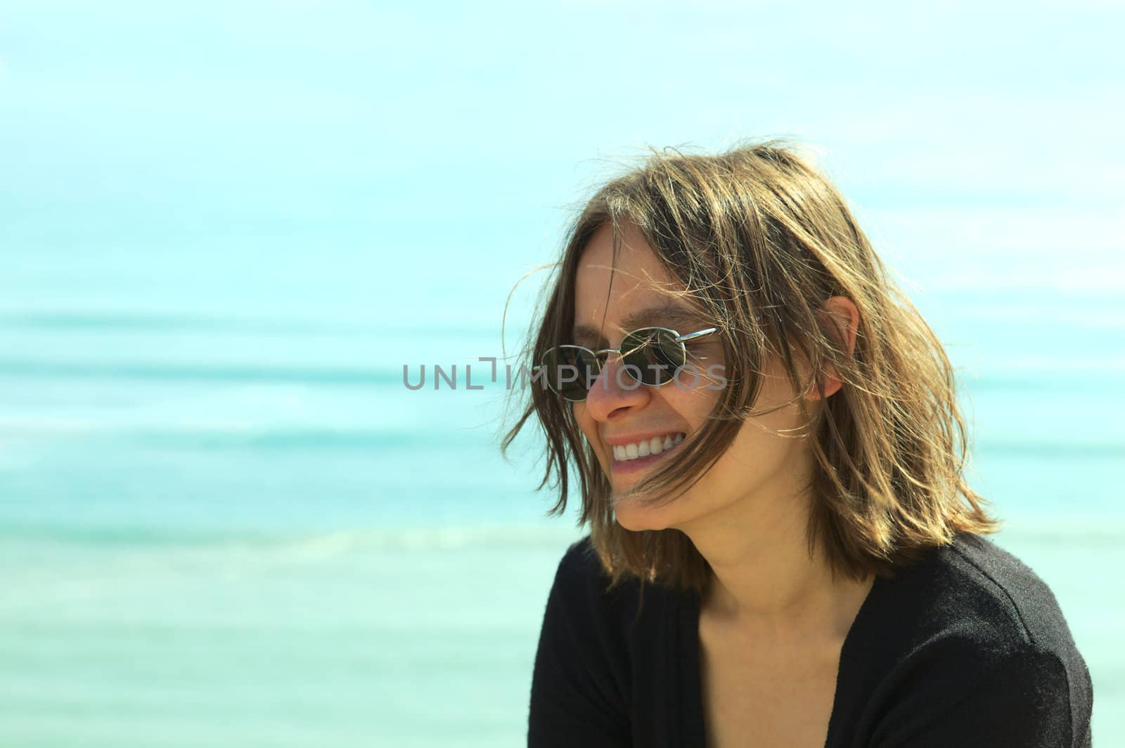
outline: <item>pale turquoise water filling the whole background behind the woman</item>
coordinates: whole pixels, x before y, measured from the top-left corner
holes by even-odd
[[[1125,744],[1120,10],[16,6],[0,746],[523,745],[579,531],[465,367],[612,158],[759,135],[946,341],[998,541]]]

